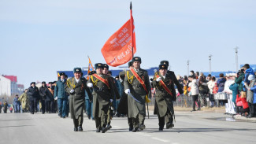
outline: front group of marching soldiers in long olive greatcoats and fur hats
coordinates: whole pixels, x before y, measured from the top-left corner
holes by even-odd
[[[85,93],[93,101],[96,132],[105,133],[111,128],[111,106],[114,98],[121,98],[117,112],[128,115],[129,131],[143,131],[146,116],[146,102],[151,94],[151,86],[155,88],[154,114],[158,115],[159,131],[174,127],[173,101],[176,101],[176,90],[180,94],[183,90],[174,72],[168,70],[169,62],[161,61],[159,71],[155,72],[150,84],[147,71],[140,68],[140,57],[133,57],[128,63],[129,69],[120,72],[119,78],[124,86],[124,93],[120,95],[112,76],[109,76],[109,66],[102,63],[95,64],[95,72],[91,72],[88,79],[82,76],[81,68],[74,68],[74,77],[67,79],[65,92],[69,94],[69,110],[73,119],[74,131],[83,131],[83,109]],[[166,122],[165,122],[166,120]]]

